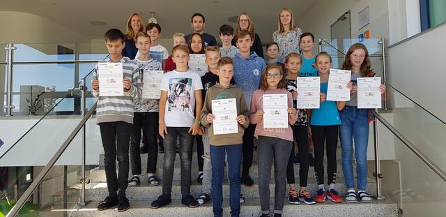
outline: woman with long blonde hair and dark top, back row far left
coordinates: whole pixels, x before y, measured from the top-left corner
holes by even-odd
[[[136,57],[138,49],[135,41],[139,32],[144,32],[144,22],[139,13],[132,13],[130,17],[128,17],[127,26],[125,27],[125,47],[123,49],[123,57],[128,57],[130,59]]]

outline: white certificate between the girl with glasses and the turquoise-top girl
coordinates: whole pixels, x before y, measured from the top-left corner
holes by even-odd
[[[297,108],[319,108],[321,104],[321,77],[298,77]]]

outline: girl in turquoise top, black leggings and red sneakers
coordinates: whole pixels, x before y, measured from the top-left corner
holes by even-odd
[[[321,52],[316,57],[316,68],[318,75],[321,77],[321,95],[323,102],[319,109],[314,109],[310,120],[311,132],[314,144],[314,170],[318,181],[319,190],[315,197],[316,202],[325,201],[324,188],[324,168],[323,168],[323,148],[326,143],[327,149],[327,174],[329,190],[327,199],[332,202],[342,202],[342,197],[334,190],[336,182],[336,149],[337,136],[341,119],[339,118],[339,110],[342,110],[346,102],[325,100],[328,89],[328,75],[332,67],[332,58],[327,52]],[[352,89],[351,82],[348,82],[348,89]]]

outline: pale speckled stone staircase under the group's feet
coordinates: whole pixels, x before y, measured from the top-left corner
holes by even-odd
[[[157,160],[157,177],[162,179],[162,161],[164,154],[158,154]],[[341,170],[341,162],[339,161],[340,149],[338,149],[338,163],[337,163],[337,184],[336,190],[345,195],[346,187],[344,181],[344,174]],[[147,174],[145,173],[147,163],[147,154],[141,154],[141,165],[144,171],[142,174],[141,184],[139,186],[129,186],[126,194],[130,200],[130,210],[123,213],[118,213],[115,209],[107,209],[105,211],[95,211],[95,207],[98,202],[103,200],[107,195],[107,183],[105,179],[105,170],[103,169],[103,155],[100,156],[100,165],[91,170],[90,183],[86,185],[86,201],[91,201],[83,209],[79,209],[73,213],[72,216],[213,216],[212,201],[204,204],[198,208],[185,207],[180,202],[180,160],[179,156],[175,160],[174,181],[172,186],[172,203],[167,207],[160,209],[151,209],[150,204],[162,193],[162,186],[148,186]],[[326,165],[326,163],[325,163]],[[299,164],[294,165],[296,186],[299,185]],[[192,186],[191,194],[197,197],[201,193],[201,184],[196,180],[198,174],[197,164],[197,152],[194,152],[192,156]],[[254,151],[253,165],[250,170],[250,175],[254,179],[254,186],[246,187],[242,186],[242,194],[247,197],[247,200],[240,207],[240,216],[260,216],[261,208],[259,201],[259,186],[258,186],[258,171],[256,165],[256,153]],[[355,175],[356,176],[356,175]],[[369,179],[367,185],[367,191],[372,196],[376,197],[376,182],[374,179]],[[161,180],[162,182],[162,180]],[[270,193],[272,206],[274,206],[274,173],[272,172],[272,179],[270,183]],[[74,188],[77,188],[75,186]],[[314,167],[309,168],[309,178],[307,190],[316,195],[317,190],[316,175]],[[227,180],[223,186],[224,197],[224,215],[229,214],[229,185]],[[397,204],[392,203],[389,200],[378,202],[374,200],[372,203],[348,203],[342,202],[341,204],[334,204],[326,201],[323,204],[307,205],[307,204],[289,204],[285,199],[284,214],[283,216],[397,216]]]

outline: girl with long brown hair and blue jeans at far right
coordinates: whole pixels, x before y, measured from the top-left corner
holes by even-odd
[[[351,82],[356,83],[358,77],[374,77],[370,70],[371,63],[367,48],[355,43],[351,45],[342,63],[342,69],[351,70]],[[371,196],[365,192],[367,186],[367,146],[369,144],[369,109],[357,108],[357,86],[353,86],[350,101],[339,112],[342,125],[339,128],[341,139],[342,170],[346,179],[347,202],[371,202]],[[385,85],[380,85],[381,93]],[[353,179],[353,138],[355,139],[355,158],[357,171],[357,194]]]

